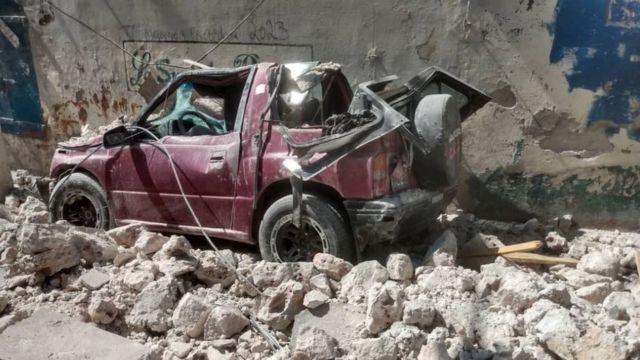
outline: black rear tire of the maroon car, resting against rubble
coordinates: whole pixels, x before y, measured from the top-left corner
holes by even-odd
[[[267,211],[260,223],[258,242],[262,258],[267,261],[311,261],[316,246],[301,242],[296,246],[291,242],[289,249],[298,249],[298,259],[295,254],[287,256],[283,251],[283,232],[287,230],[296,231],[297,228],[291,224],[293,215],[293,196],[287,195],[275,201]],[[317,233],[322,242],[322,250],[315,252],[326,252],[347,261],[353,262],[356,259],[355,244],[351,229],[342,213],[330,201],[312,194],[303,195],[302,205],[303,229],[310,229]],[[307,235],[308,233],[305,233]],[[304,240],[315,239],[315,235],[306,236]],[[313,241],[317,243],[317,241]],[[281,251],[278,251],[280,249]],[[283,252],[283,253],[281,253]]]

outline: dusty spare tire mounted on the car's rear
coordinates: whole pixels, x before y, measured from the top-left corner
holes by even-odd
[[[414,131],[428,153],[416,152],[413,172],[422,187],[436,190],[457,184],[462,162],[460,123],[460,110],[451,95],[427,95],[418,103]]]

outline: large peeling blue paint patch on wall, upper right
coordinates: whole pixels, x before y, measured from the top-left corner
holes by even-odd
[[[588,124],[640,140],[640,0],[558,0],[551,63],[572,60],[570,90],[597,92]]]

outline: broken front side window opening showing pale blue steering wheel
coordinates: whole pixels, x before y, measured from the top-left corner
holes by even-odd
[[[222,135],[236,126],[246,76],[184,81],[149,114],[146,126],[164,136]]]

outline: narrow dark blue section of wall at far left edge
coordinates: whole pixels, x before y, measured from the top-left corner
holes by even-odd
[[[41,134],[42,109],[33,67],[29,22],[12,0],[0,1],[0,20],[19,45],[0,32],[0,131],[11,134]]]

